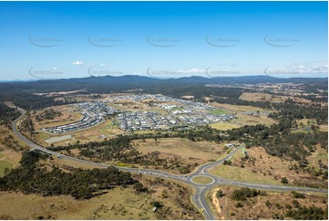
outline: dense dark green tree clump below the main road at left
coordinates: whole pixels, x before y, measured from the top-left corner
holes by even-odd
[[[87,199],[116,186],[138,183],[130,173],[119,172],[113,166],[93,170],[73,169],[71,173],[65,173],[53,165],[49,172],[39,163],[46,157],[42,153],[24,152],[21,166],[0,178],[0,190],[21,191],[25,194],[72,195],[77,199]]]

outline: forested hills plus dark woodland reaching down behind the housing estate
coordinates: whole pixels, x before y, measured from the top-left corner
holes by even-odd
[[[55,100],[56,97],[38,96],[34,93],[47,93],[57,91],[79,90],[78,93],[110,93],[110,92],[144,92],[150,94],[163,94],[180,98],[183,95],[193,95],[195,100],[203,97],[227,97],[225,102],[242,102],[239,100],[243,91],[251,89],[242,88],[210,88],[205,84],[256,84],[256,83],[303,83],[304,90],[317,92],[317,89],[328,89],[328,79],[275,79],[268,76],[249,77],[221,77],[202,78],[189,77],[180,79],[153,79],[136,75],[121,77],[105,76],[101,78],[89,77],[82,79],[54,79],[20,82],[0,83],[0,103],[12,101],[15,105],[26,110],[37,110],[54,105],[74,102],[74,100]],[[219,100],[220,101],[220,100]],[[244,101],[246,102],[246,101]],[[243,103],[246,105],[245,103]],[[258,104],[257,104],[258,105]],[[258,105],[259,106],[259,105]]]

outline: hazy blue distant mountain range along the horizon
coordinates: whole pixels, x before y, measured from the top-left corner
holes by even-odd
[[[292,78],[279,79],[269,76],[243,76],[243,77],[217,77],[203,78],[192,76],[180,79],[154,79],[138,75],[125,75],[120,77],[88,77],[80,79],[47,79],[36,81],[0,82],[0,92],[26,91],[59,91],[87,89],[88,91],[118,91],[122,89],[152,89],[155,87],[188,87],[203,84],[257,84],[257,83],[321,83],[327,84],[328,78]]]

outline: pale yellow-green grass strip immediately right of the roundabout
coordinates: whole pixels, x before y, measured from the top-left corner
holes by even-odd
[[[271,177],[264,176],[262,174],[253,173],[244,168],[230,165],[221,165],[219,167],[212,168],[210,173],[222,178],[245,181],[250,183],[260,184],[281,184],[280,181],[274,180]]]

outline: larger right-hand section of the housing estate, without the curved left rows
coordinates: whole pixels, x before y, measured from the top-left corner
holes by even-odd
[[[124,112],[118,114],[118,127],[125,131],[142,131],[162,129],[170,126],[186,126],[190,124],[209,124],[218,121],[231,121],[234,114],[215,114],[215,107],[201,102],[174,99],[163,95],[126,95],[108,98],[111,102],[118,100],[152,100],[155,106],[166,110],[168,115],[154,111]],[[168,102],[175,104],[168,104]]]

